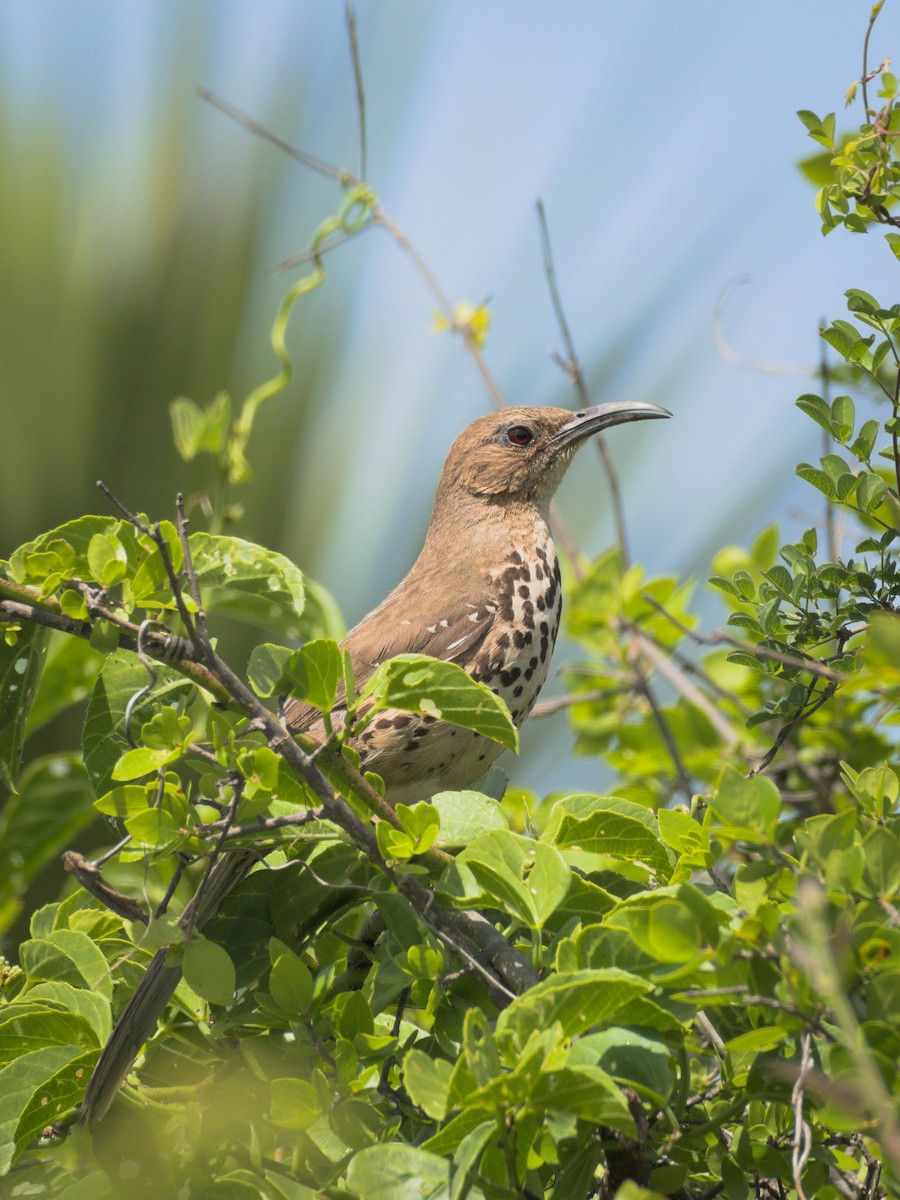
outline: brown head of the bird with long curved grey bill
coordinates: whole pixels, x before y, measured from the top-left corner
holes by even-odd
[[[625,421],[671,416],[637,401],[568,408],[504,408],[467,425],[446,456],[437,505],[468,494],[487,502],[550,505],[572,455],[594,433]]]

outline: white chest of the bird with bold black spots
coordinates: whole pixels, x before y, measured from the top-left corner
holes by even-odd
[[[521,725],[547,678],[559,632],[563,593],[553,542],[511,551],[491,572],[491,587],[497,616],[469,671],[506,702]]]

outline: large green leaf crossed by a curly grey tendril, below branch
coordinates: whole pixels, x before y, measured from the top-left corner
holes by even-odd
[[[156,683],[133,708],[132,736],[150,720],[162,703],[184,702],[194,686],[184,676],[154,665]],[[82,750],[94,792],[106,796],[115,782],[113,770],[130,744],[125,737],[125,712],[128,701],[150,682],[150,676],[137,654],[115,650],[103,665],[94,685],[84,719]]]

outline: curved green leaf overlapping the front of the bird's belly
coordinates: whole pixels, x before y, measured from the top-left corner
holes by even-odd
[[[424,713],[518,751],[518,732],[504,702],[455,662],[400,654],[373,672],[362,696],[373,706],[366,715],[385,708]]]

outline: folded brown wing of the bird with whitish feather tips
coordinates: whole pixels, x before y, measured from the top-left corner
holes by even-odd
[[[469,601],[458,605],[449,616],[437,616],[421,610],[415,617],[406,616],[408,607],[392,605],[389,600],[376,608],[347,635],[341,643],[349,650],[356,688],[362,688],[374,668],[397,654],[428,654],[445,662],[470,661],[485,642],[496,619],[497,606],[490,600]],[[444,610],[445,613],[445,610]],[[341,684],[335,702],[335,714],[343,710],[344,690]],[[322,713],[301,700],[288,700],[284,716],[298,733],[312,728],[322,720]]]

